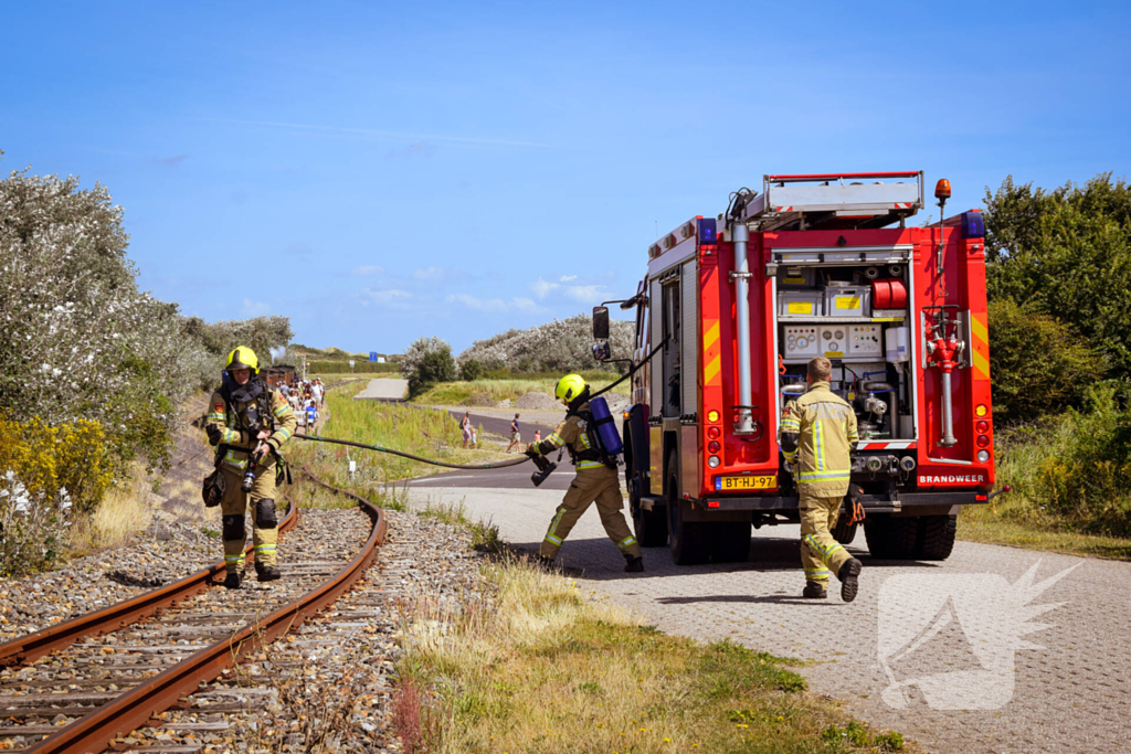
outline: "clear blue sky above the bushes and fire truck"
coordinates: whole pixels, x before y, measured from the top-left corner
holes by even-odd
[[[955,211],[1126,175],[1129,8],[10,3],[0,170],[106,184],[187,314],[458,350],[631,294],[765,173],[924,170]]]

